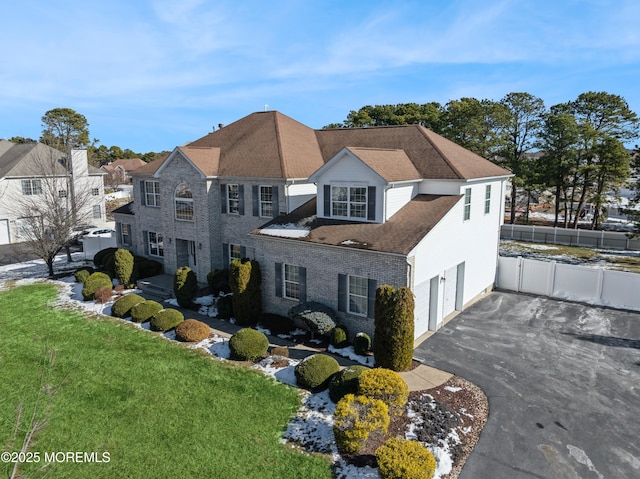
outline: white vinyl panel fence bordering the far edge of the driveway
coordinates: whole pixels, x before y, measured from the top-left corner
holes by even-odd
[[[496,286],[640,311],[640,274],[635,273],[501,256]]]

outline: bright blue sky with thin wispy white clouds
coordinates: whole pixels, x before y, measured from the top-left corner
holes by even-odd
[[[21,0],[0,29],[0,138],[71,108],[98,145],[173,150],[256,111],[588,91],[640,114],[637,0]],[[638,143],[638,142],[636,142]]]

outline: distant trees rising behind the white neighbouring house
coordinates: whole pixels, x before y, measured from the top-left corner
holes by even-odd
[[[71,108],[54,108],[47,111],[41,118],[42,135],[38,140],[56,150],[68,153],[71,149],[87,150],[89,163],[99,167],[115,160],[140,158],[150,162],[166,152],[136,153],[129,148],[119,146],[100,145],[97,138],[90,139],[89,122],[81,113]],[[36,140],[14,136],[9,138],[13,143],[36,143]]]

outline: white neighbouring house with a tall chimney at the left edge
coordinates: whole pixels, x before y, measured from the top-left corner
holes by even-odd
[[[82,222],[103,222],[103,175],[88,164],[85,150],[72,150],[67,161],[67,155],[41,143],[0,140],[0,244],[21,241],[20,223],[25,211],[20,204],[27,196],[53,194],[64,204],[71,202],[72,192],[76,196],[82,192],[78,217]]]

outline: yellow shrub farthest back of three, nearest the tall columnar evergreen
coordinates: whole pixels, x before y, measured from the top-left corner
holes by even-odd
[[[358,394],[380,399],[390,411],[399,413],[409,399],[409,386],[391,369],[368,369],[360,375]]]

